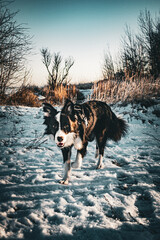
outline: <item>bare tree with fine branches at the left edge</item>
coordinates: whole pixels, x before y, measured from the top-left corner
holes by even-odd
[[[0,0],[0,96],[23,80],[25,60],[31,50],[31,37],[24,24],[18,24],[9,4]]]

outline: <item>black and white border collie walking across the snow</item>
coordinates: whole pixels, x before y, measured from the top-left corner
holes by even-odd
[[[102,159],[107,140],[119,141],[127,132],[127,123],[112,112],[104,102],[88,101],[73,104],[66,100],[61,111],[50,104],[44,103],[44,124],[46,134],[54,136],[57,146],[61,149],[64,161],[64,177],[60,181],[68,184],[71,167],[80,168],[86,154],[88,142],[96,140],[97,169],[103,167]],[[75,147],[77,156],[71,164],[71,149]]]

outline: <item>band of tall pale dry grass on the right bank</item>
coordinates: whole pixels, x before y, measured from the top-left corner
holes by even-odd
[[[156,80],[125,80],[99,82],[94,84],[91,99],[108,103],[134,102],[160,96],[160,78]]]

